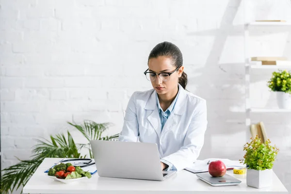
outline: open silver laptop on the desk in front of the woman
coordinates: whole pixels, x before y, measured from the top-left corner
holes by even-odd
[[[100,177],[164,180],[177,171],[162,171],[158,146],[151,143],[90,141]]]

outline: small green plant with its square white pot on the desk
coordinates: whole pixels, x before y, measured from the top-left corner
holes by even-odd
[[[241,163],[247,166],[246,184],[250,187],[265,188],[272,185],[273,163],[279,149],[270,143],[269,139],[265,143],[261,142],[257,135],[243,147],[246,153]]]

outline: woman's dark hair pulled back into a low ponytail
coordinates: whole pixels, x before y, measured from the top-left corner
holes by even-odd
[[[173,65],[177,68],[183,65],[183,56],[180,49],[170,42],[162,42],[157,44],[149,53],[149,59],[158,58],[160,56],[169,56],[173,61]],[[179,78],[179,84],[186,89],[188,83],[187,74],[183,71],[182,76]]]

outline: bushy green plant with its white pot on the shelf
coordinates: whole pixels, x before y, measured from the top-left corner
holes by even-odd
[[[268,87],[276,92],[277,104],[280,109],[291,109],[291,72],[278,70],[273,72]]]

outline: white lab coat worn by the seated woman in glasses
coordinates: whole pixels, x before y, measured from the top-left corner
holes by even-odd
[[[134,92],[129,99],[119,141],[155,143],[160,158],[182,170],[196,161],[204,144],[207,108],[205,99],[178,85],[179,96],[162,133],[156,91]]]

